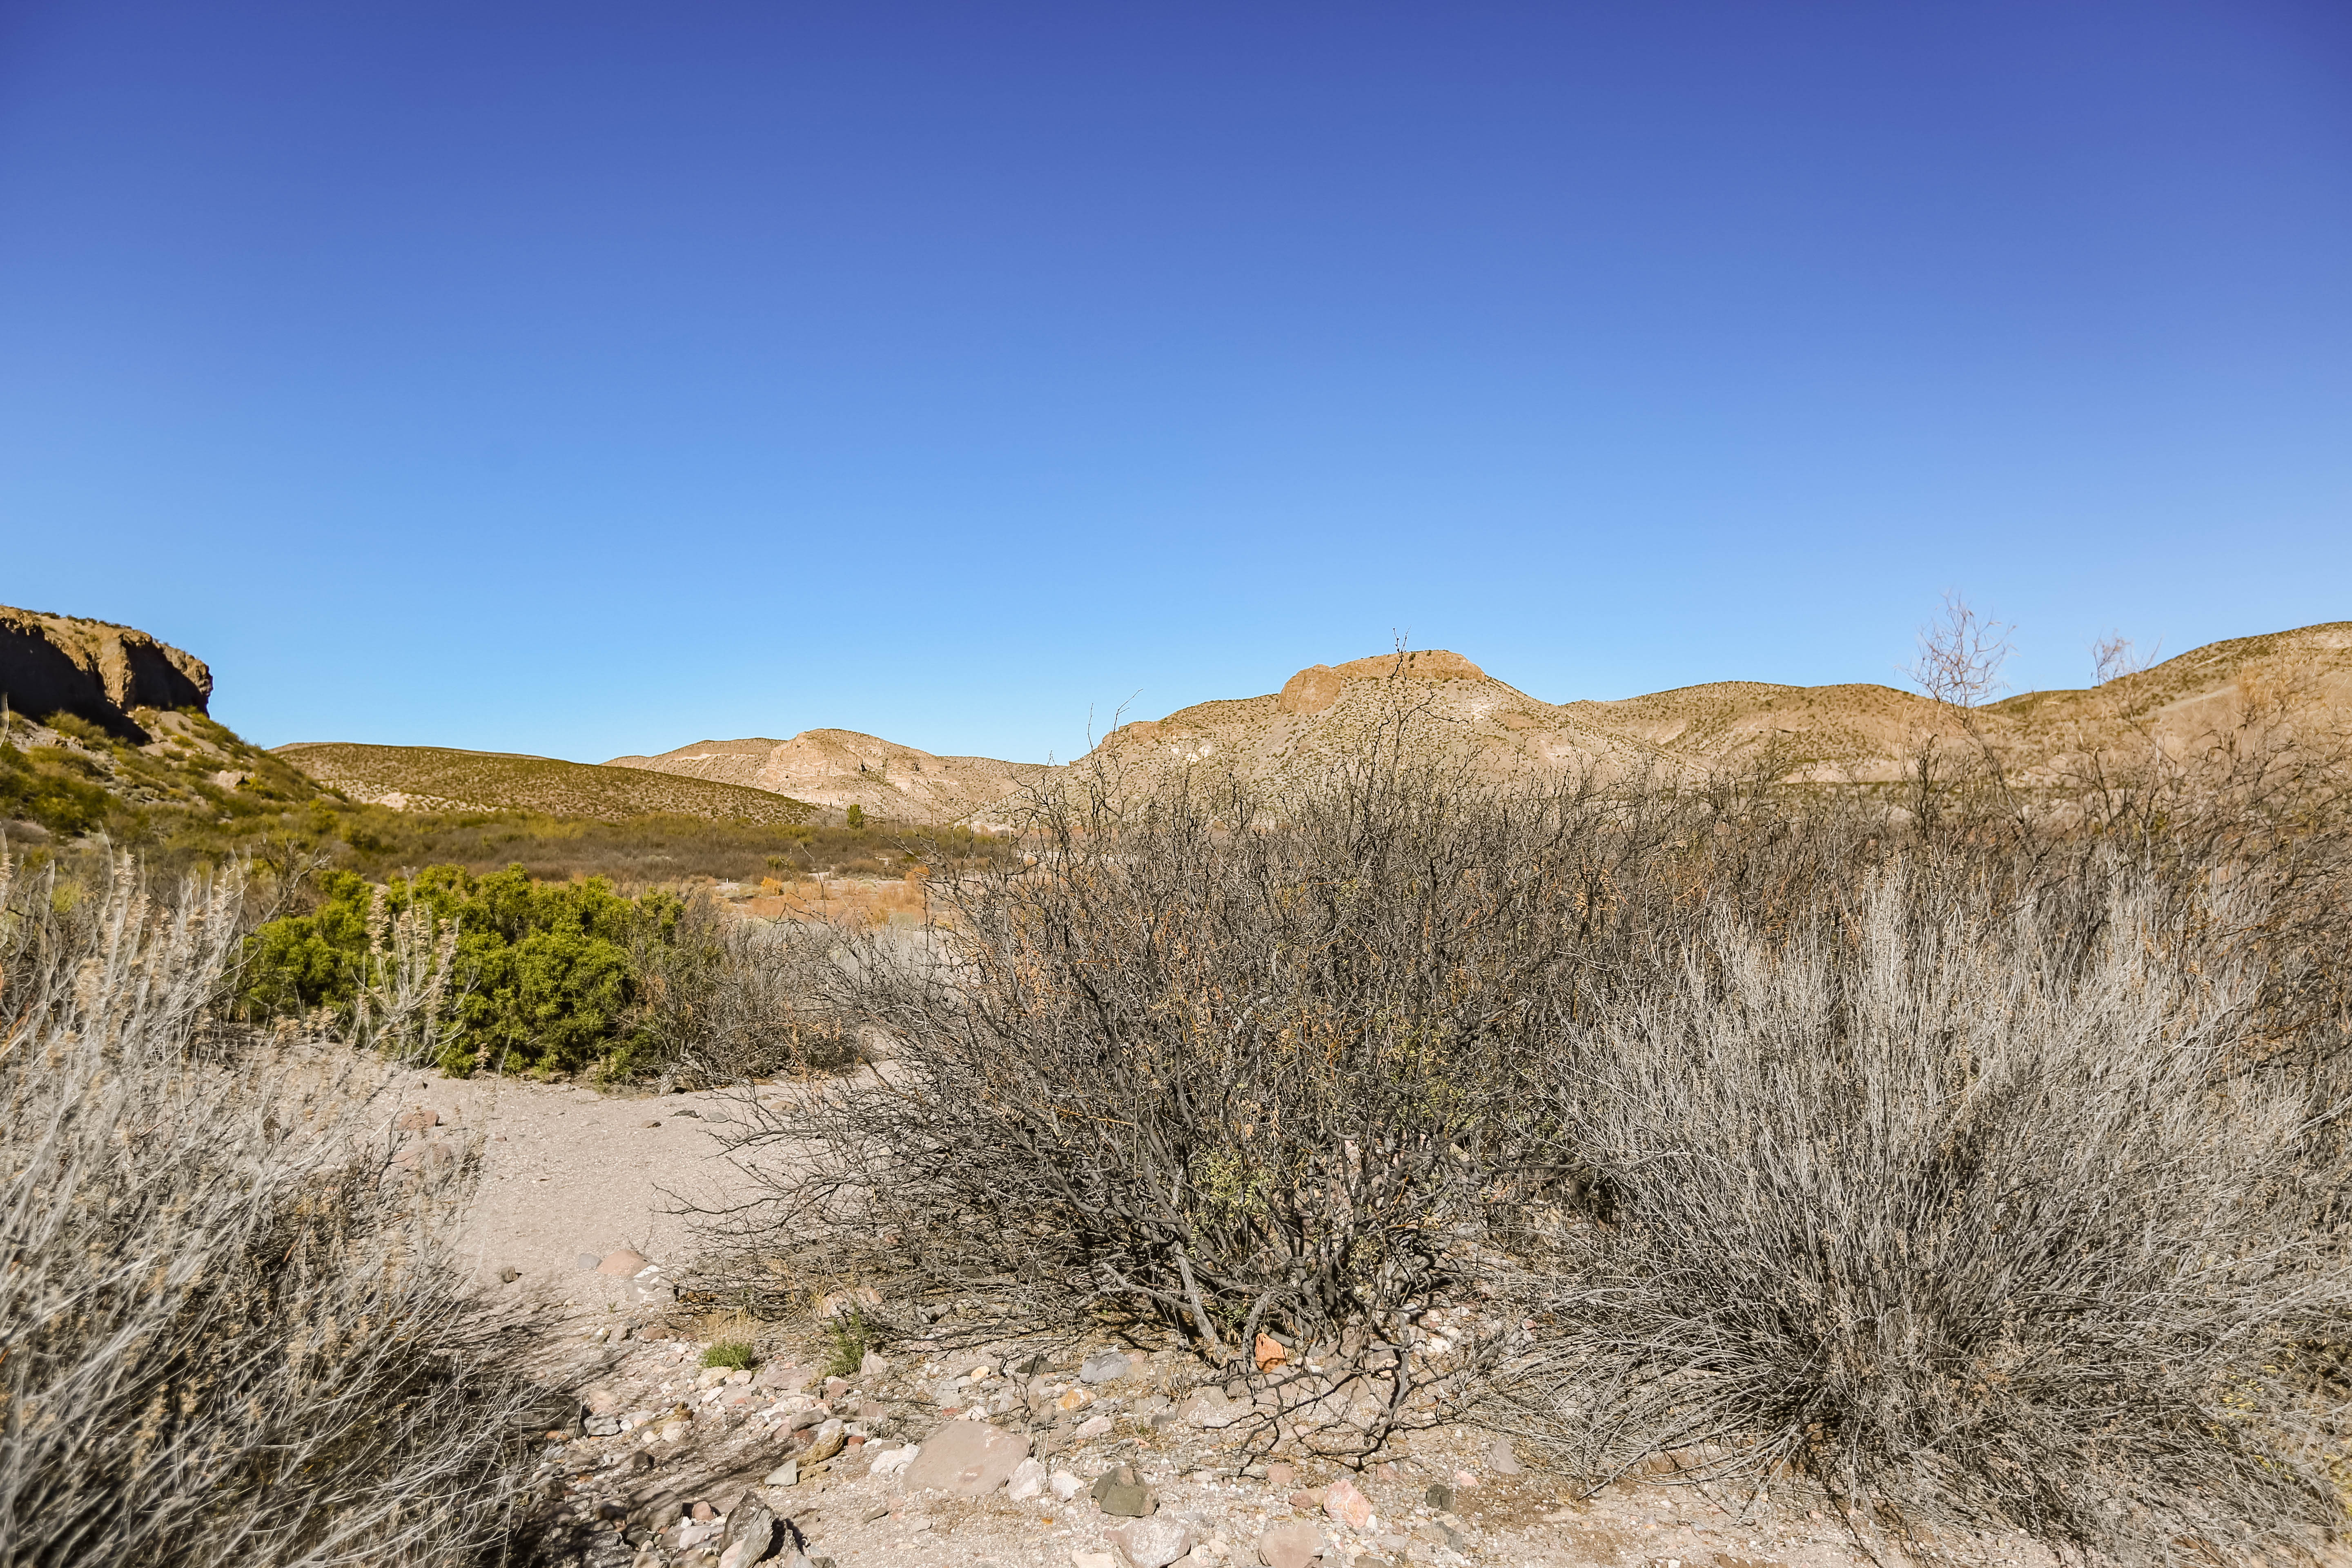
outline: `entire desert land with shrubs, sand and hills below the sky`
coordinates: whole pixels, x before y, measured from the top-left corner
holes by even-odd
[[[0,628],[24,1561],[2338,1552],[2352,623],[1061,766],[263,752]]]

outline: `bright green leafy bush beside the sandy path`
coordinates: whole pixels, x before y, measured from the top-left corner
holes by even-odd
[[[322,893],[310,914],[273,919],[249,938],[249,1011],[355,1001],[374,886],[329,872]],[[459,929],[445,1072],[623,1074],[647,1046],[630,950],[659,952],[675,940],[684,907],[675,896],[623,898],[602,877],[543,884],[520,865],[487,877],[435,865],[393,877],[388,893],[390,914],[419,907]]]

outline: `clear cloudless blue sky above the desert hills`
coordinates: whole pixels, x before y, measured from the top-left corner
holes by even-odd
[[[2352,7],[0,0],[0,545],[263,743],[2082,684],[2352,616]]]

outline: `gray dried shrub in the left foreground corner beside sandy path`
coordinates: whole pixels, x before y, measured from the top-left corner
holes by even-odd
[[[494,1556],[524,1389],[449,1255],[463,1168],[388,1166],[348,1048],[212,1027],[233,884],[7,884],[0,1561]]]

